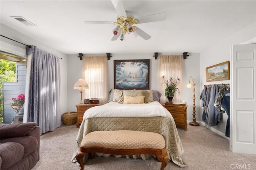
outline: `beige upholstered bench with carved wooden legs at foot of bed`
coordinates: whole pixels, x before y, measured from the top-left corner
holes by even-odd
[[[94,131],[88,133],[80,144],[76,160],[84,170],[83,158],[86,153],[100,152],[112,155],[156,155],[162,162],[161,170],[168,163],[164,137],[158,133],[142,131]]]

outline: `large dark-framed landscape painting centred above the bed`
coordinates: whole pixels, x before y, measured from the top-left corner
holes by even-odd
[[[149,89],[150,60],[114,60],[114,88]]]

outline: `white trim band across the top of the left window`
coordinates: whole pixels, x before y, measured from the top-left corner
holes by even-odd
[[[0,41],[0,50],[27,59],[26,49]]]

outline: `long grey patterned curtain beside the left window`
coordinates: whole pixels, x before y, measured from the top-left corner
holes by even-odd
[[[60,58],[27,48],[26,92],[23,122],[35,122],[40,134],[60,127]]]

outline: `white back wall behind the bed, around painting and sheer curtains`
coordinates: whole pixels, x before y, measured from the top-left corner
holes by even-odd
[[[95,54],[96,55],[96,54]],[[98,54],[106,55],[106,54]],[[154,54],[111,54],[108,60],[108,89],[114,88],[114,60],[128,59],[150,59],[150,89],[159,90],[159,82],[155,81],[157,75],[157,62]],[[163,54],[172,55],[172,54]],[[192,121],[192,88],[186,88],[189,77],[192,76],[196,84],[200,82],[200,54],[190,53],[184,61],[183,69],[183,100],[188,102],[188,121]],[[86,54],[84,54],[86,56]],[[68,111],[76,111],[76,105],[80,102],[79,90],[74,90],[73,86],[82,78],[82,61],[77,55],[68,55]],[[199,86],[196,85],[196,112],[199,112]]]

